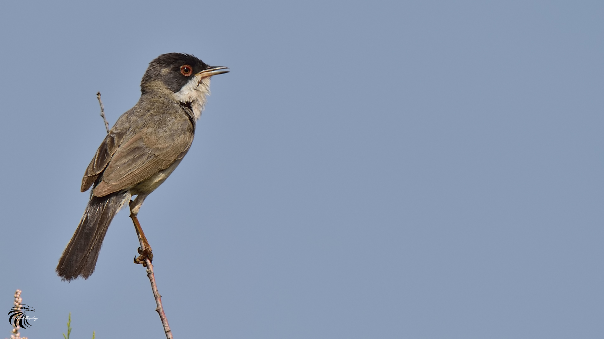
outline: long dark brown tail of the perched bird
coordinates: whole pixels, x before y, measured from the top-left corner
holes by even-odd
[[[76,233],[65,247],[56,268],[57,274],[63,281],[76,279],[79,276],[88,279],[94,272],[98,252],[101,250],[109,224],[128,200],[130,194],[127,191],[115,192],[104,197],[91,195]]]

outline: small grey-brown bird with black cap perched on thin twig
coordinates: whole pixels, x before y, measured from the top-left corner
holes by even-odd
[[[149,63],[140,100],[115,122],[86,168],[82,192],[92,187],[90,201],[59,259],[56,271],[62,280],[87,279],[94,272],[109,224],[126,203],[144,241],[135,262],[144,265],[153,258],[138,211],[187,154],[210,93],[210,77],[226,69],[180,53],[162,54]]]

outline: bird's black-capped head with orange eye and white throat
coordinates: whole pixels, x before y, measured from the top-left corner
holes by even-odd
[[[226,69],[223,66],[208,66],[190,54],[162,54],[149,63],[141,80],[141,92],[170,90],[176,100],[187,104],[195,118],[199,119],[205,97],[210,94],[210,77],[228,73]]]

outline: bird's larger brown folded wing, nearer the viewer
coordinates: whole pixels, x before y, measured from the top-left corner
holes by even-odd
[[[174,133],[165,135],[165,131],[146,128],[133,135],[123,145],[117,147],[93,194],[103,197],[122,189],[132,188],[159,171],[165,170],[176,160],[182,159],[193,142],[193,131],[185,128],[185,133],[182,132],[181,130],[179,135]],[[109,146],[108,150],[110,150]],[[98,158],[101,160],[102,156],[101,154]]]

